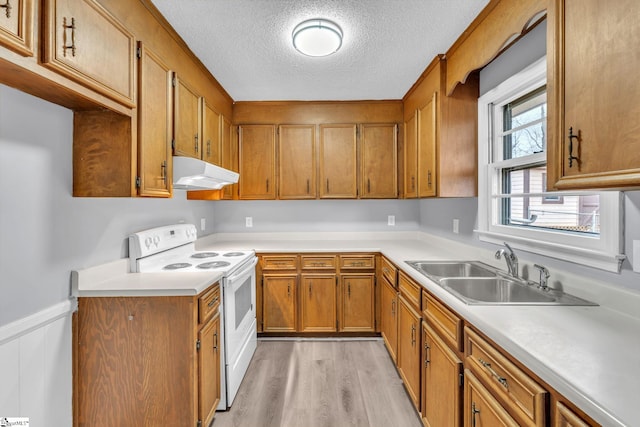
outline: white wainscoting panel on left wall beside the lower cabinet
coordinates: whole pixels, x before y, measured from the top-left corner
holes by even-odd
[[[0,327],[0,417],[72,426],[74,310],[64,302]]]

